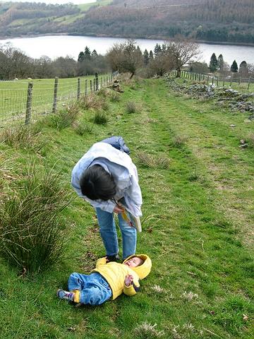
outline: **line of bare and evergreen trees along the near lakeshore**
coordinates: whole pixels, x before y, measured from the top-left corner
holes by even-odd
[[[15,78],[73,78],[95,73],[118,71],[135,74],[144,78],[164,76],[176,70],[177,76],[181,70],[195,73],[219,72],[222,76],[248,78],[254,77],[254,65],[242,61],[239,66],[234,61],[231,66],[224,61],[222,54],[219,57],[213,53],[210,64],[198,61],[200,49],[196,42],[178,37],[177,39],[156,44],[153,50],[144,52],[129,39],[114,44],[106,55],[97,54],[96,49],[85,48],[80,51],[77,61],[72,57],[59,57],[54,60],[43,56],[32,59],[11,44],[0,46],[0,79],[13,80]]]

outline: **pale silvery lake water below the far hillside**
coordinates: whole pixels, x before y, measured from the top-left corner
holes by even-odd
[[[14,47],[21,49],[32,58],[40,58],[47,55],[51,59],[56,57],[73,57],[78,59],[80,51],[84,51],[85,46],[91,52],[96,49],[97,53],[105,54],[107,50],[116,42],[123,42],[126,39],[120,37],[84,37],[71,35],[53,35],[43,37],[21,37],[7,40],[0,40],[0,44],[11,42]],[[140,49],[149,52],[155,48],[155,44],[162,44],[164,40],[136,39]],[[236,60],[238,66],[245,60],[248,64],[254,64],[254,47],[228,45],[228,44],[199,44],[202,55],[200,61],[210,62],[212,53],[218,57],[223,55],[224,61],[230,66]]]

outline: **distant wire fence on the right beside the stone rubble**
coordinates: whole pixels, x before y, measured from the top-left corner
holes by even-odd
[[[174,71],[174,75],[176,76],[176,71]],[[230,86],[236,89],[246,89],[254,91],[254,78],[234,78],[230,77],[222,77],[222,76],[210,76],[202,73],[193,73],[190,71],[181,71],[181,78],[190,79],[192,81],[198,81],[207,83],[207,85],[217,85],[217,86]]]

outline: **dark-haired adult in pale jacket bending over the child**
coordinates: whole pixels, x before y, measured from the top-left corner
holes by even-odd
[[[135,217],[142,216],[142,196],[138,172],[123,138],[112,137],[92,145],[73,168],[71,185],[77,194],[96,209],[101,234],[109,261],[119,258],[119,244],[114,223],[118,214],[123,241],[123,260],[135,254],[137,232],[128,225],[118,201],[124,198]]]

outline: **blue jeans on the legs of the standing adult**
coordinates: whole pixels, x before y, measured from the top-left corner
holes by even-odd
[[[116,225],[114,222],[114,213],[105,212],[100,208],[96,208],[97,218],[99,222],[99,232],[101,234],[107,256],[114,256],[119,253],[119,244],[116,234]],[[123,220],[121,213],[118,214],[119,227],[123,239],[123,260],[135,254],[137,244],[137,231],[134,227],[128,225]]]

